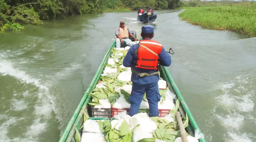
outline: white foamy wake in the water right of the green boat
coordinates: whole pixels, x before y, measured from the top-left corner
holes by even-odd
[[[256,83],[255,76],[238,76],[234,80],[220,85],[223,92],[217,97],[221,112],[215,114],[222,126],[227,131],[226,141],[230,142],[252,142],[256,138],[251,133],[242,132],[242,129],[253,127],[248,122],[256,122],[253,116],[254,95]],[[224,111],[224,112],[223,112]],[[249,126],[249,127],[247,127]]]

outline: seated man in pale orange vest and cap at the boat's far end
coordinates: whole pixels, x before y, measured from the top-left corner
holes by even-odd
[[[116,48],[120,48],[121,44],[125,43],[127,46],[132,46],[132,41],[129,39],[129,35],[136,39],[133,34],[130,32],[130,30],[124,26],[124,21],[120,21],[120,26],[116,28]]]

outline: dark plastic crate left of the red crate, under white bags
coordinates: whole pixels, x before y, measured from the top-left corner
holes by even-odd
[[[111,119],[111,108],[94,108],[92,107],[92,117]]]

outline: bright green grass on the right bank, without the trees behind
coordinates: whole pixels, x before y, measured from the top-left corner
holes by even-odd
[[[237,31],[256,37],[256,11],[253,6],[201,6],[183,7],[181,20],[206,29]]]

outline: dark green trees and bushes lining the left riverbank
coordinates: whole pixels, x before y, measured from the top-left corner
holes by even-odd
[[[0,33],[6,29],[20,31],[22,24],[42,24],[45,19],[67,15],[131,11],[141,6],[154,10],[174,9],[180,0],[0,0]]]

